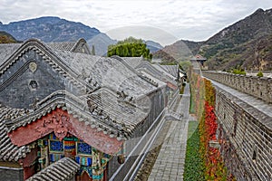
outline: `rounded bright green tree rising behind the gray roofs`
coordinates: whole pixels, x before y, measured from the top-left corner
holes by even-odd
[[[141,39],[129,37],[119,41],[115,45],[108,46],[108,56],[118,55],[121,57],[141,57],[151,60],[152,54]]]

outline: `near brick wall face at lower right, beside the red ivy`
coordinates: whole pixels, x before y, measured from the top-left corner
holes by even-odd
[[[217,136],[228,170],[237,180],[271,180],[271,117],[226,91],[216,89]]]

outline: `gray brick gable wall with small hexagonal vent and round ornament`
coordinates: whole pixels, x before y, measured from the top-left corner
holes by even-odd
[[[30,64],[35,70],[31,71]],[[12,108],[33,109],[55,90],[65,90],[63,77],[34,51],[25,54],[1,75],[0,102]]]

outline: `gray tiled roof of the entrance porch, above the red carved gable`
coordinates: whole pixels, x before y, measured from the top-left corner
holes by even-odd
[[[44,100],[37,102],[34,111],[21,117],[6,121],[8,131],[30,124],[56,108],[67,110],[79,121],[84,121],[92,129],[103,131],[111,138],[129,138],[137,126],[147,117],[149,101],[145,98],[135,100],[105,88],[92,94],[76,97],[65,90],[53,92]]]

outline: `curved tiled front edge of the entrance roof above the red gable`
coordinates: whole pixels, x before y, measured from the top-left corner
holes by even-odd
[[[118,99],[112,90],[104,90]],[[5,121],[5,127],[7,132],[12,132],[22,126],[31,124],[37,119],[41,119],[44,115],[55,109],[62,109],[66,110],[68,114],[73,115],[73,118],[77,118],[79,121],[85,121],[85,125],[89,125],[98,130],[105,130],[104,134],[109,134],[111,136],[112,132],[114,132],[111,137],[116,137],[120,140],[130,137],[131,132],[136,128],[135,125],[132,125],[131,127],[132,123],[128,122],[124,125],[120,125],[118,121],[111,116],[111,113],[108,112],[109,110],[101,111],[102,108],[97,107],[97,105],[95,106],[92,103],[90,104],[90,100],[91,99],[89,99],[88,96],[86,96],[86,99],[83,99],[83,97],[79,98],[69,91],[56,90],[44,100],[39,101],[37,104],[40,105],[35,110],[30,110],[28,114]],[[122,102],[120,102],[120,104],[124,105]],[[92,106],[95,106],[93,110]],[[117,134],[117,132],[119,132],[119,134]]]

